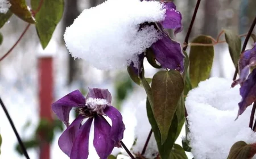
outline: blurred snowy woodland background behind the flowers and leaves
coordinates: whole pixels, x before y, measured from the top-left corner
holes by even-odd
[[[63,40],[65,28],[73,23],[82,10],[102,2],[104,1],[65,0],[63,18],[45,50],[39,43],[35,27],[31,26],[10,55],[0,62],[0,96],[20,136],[29,148],[28,153],[32,159],[68,158],[57,145],[64,125],[55,120],[49,103],[76,89],[86,94],[88,87],[109,89],[112,93],[113,105],[122,112],[126,124],[124,142],[128,147],[133,144],[136,135],[135,125],[141,120],[136,119],[135,111],[138,103],[146,99],[143,88],[130,80],[126,69],[103,72],[92,68],[84,60],[73,60]],[[183,43],[196,0],[174,2],[177,10],[183,15],[184,28],[173,38]],[[29,1],[27,3],[30,4]],[[255,15],[254,0],[202,1],[189,41],[200,34],[210,35],[216,39],[224,28],[234,30],[240,35],[246,34]],[[14,45],[26,25],[26,22],[13,15],[1,28],[3,44],[0,46],[0,57]],[[250,48],[251,44],[252,41],[249,41],[247,47]],[[187,52],[189,53],[189,48]],[[211,76],[232,80],[235,68],[228,52],[228,45],[217,44],[214,46],[214,52]],[[148,64],[145,65],[146,77],[152,77],[156,70]],[[50,93],[47,94],[47,91]],[[24,158],[20,155],[14,132],[1,108],[0,116],[0,133],[3,138],[0,158]],[[71,121],[74,118],[73,112]],[[147,134],[149,130],[148,127],[145,133]],[[44,134],[45,142],[42,142],[41,133]],[[89,158],[97,157],[92,154]]]

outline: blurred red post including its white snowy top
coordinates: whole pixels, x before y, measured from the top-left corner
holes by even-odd
[[[53,54],[56,52],[56,43],[52,41],[49,46],[38,53],[38,80],[39,80],[39,104],[40,119],[53,122],[51,104],[53,101]],[[50,144],[45,141],[46,134],[40,133],[42,144],[40,145],[39,159],[50,158]]]

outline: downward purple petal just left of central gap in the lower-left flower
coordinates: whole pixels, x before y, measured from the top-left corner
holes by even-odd
[[[77,134],[71,149],[71,159],[88,158],[89,155],[89,135],[90,126],[92,125],[93,118],[89,118]]]

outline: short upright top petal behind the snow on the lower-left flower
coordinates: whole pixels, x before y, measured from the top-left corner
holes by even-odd
[[[97,88],[90,88],[90,87],[89,87],[89,93],[86,96],[86,99],[88,98],[105,99],[109,104],[111,103],[111,99],[112,99],[108,89],[97,89]]]

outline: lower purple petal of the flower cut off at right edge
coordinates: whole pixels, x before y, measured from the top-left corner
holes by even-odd
[[[238,115],[241,115],[246,110],[246,107],[250,106],[256,99],[256,69],[243,82],[240,88],[240,95],[242,96],[242,101],[238,103]]]

